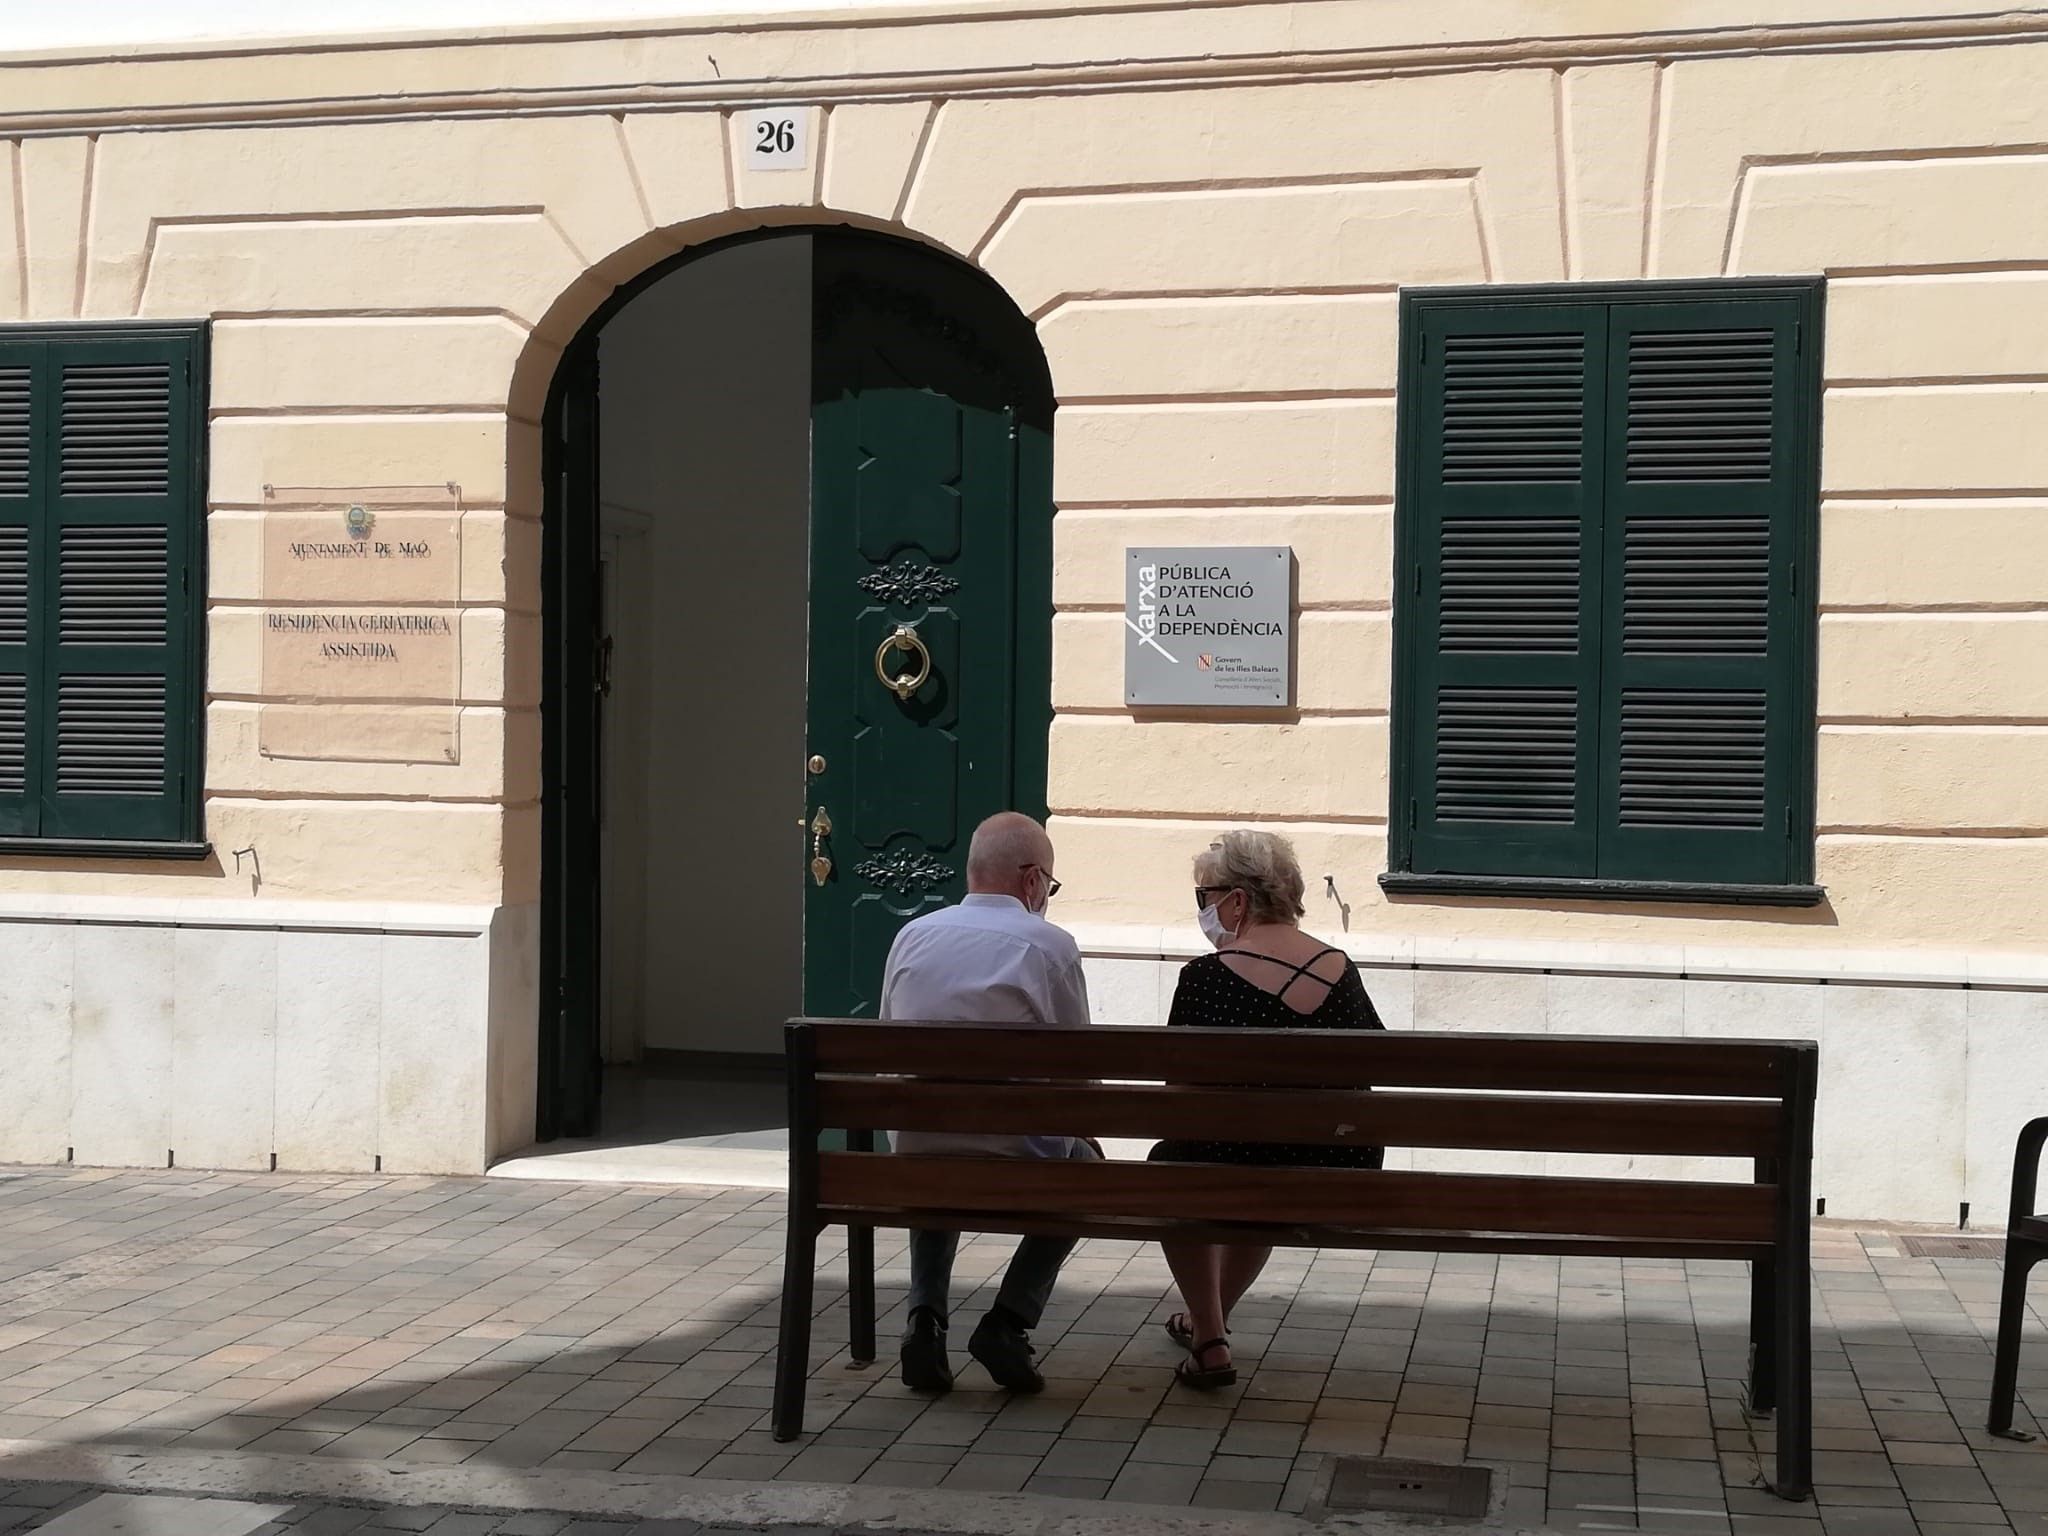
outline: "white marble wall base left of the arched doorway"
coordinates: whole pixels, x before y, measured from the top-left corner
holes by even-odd
[[[481,1174],[532,1141],[530,907],[201,905],[0,911],[0,1161]]]

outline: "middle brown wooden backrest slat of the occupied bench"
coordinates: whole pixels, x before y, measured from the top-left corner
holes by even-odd
[[[1325,1147],[1769,1157],[1763,1100],[1362,1094],[1182,1083],[956,1083],[819,1075],[825,1124],[1049,1137],[1184,1137]]]

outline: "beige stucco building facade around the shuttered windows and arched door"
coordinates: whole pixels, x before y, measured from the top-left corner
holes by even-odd
[[[0,942],[43,956],[0,967],[0,1030],[74,1083],[0,1114],[0,1157],[160,1161],[182,1094],[233,1100],[207,1063],[264,1069],[182,1026],[188,993],[348,1077],[291,958],[332,965],[324,934],[383,946],[348,1026],[381,1065],[344,1106],[272,1071],[213,1161],[481,1167],[522,1139],[545,389],[664,256],[850,221],[985,268],[1051,362],[1049,801],[1098,1012],[1159,1016],[1190,852],[1276,825],[1391,1022],[1817,1034],[1831,1212],[1982,1210],[2048,1102],[2048,12],[1896,10],[1692,0],[1642,33],[1581,0],[1516,6],[1507,39],[1438,0],[963,4],[0,59],[0,324],[213,322],[217,850],[0,862]],[[745,170],[735,113],[768,102],[809,113],[809,170]],[[1829,279],[1825,905],[1386,899],[1399,291],[1739,274]],[[264,756],[266,487],[451,481],[459,760]],[[1298,713],[1122,707],[1122,549],[1176,543],[1292,545]],[[391,1063],[416,983],[457,999],[442,1055],[406,1047],[451,1083],[434,1133]],[[109,1028],[164,1081],[86,1087]],[[332,1145],[276,1135],[309,1094]]]

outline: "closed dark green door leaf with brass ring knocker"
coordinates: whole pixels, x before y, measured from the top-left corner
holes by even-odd
[[[965,893],[975,823],[1044,811],[1051,389],[1030,326],[936,252],[819,233],[813,295],[805,817],[829,834],[791,872],[805,1010],[860,1018],[897,930]]]

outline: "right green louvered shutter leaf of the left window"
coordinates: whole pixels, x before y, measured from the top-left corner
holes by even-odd
[[[195,831],[193,365],[190,336],[43,344],[29,700],[43,838]]]

